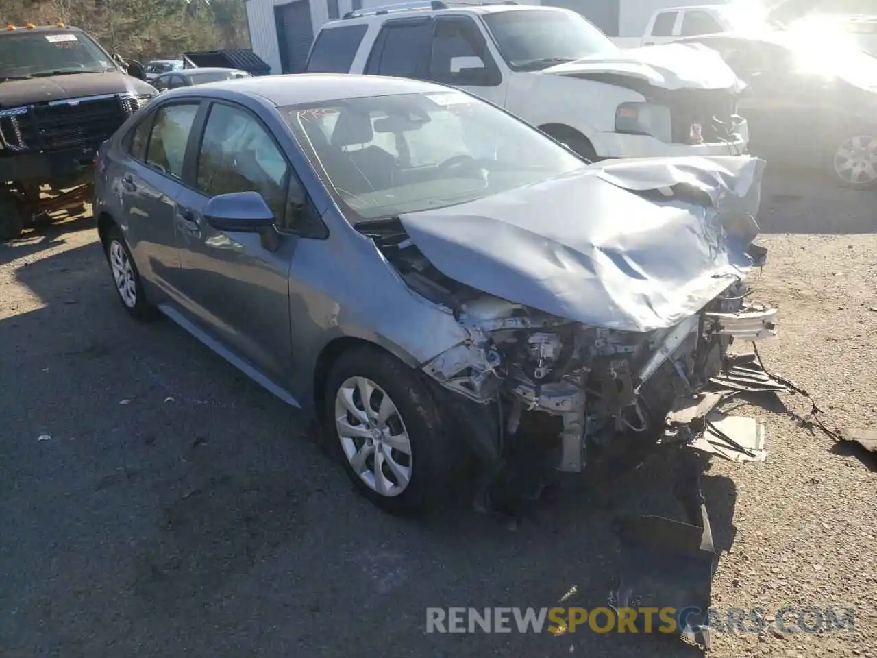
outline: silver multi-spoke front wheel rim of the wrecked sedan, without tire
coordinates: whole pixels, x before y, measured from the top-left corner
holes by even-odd
[[[411,481],[411,442],[396,404],[367,377],[335,394],[335,428],[351,468],[377,494],[394,497]]]

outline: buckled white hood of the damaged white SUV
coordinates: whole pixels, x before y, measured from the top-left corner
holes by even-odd
[[[630,75],[661,89],[745,88],[722,57],[702,44],[667,44],[595,54],[541,71],[549,75]]]

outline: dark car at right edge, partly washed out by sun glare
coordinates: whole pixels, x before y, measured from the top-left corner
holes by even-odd
[[[877,184],[877,59],[813,32],[692,39],[721,54],[750,85],[740,100],[753,154],[821,168],[854,188]]]

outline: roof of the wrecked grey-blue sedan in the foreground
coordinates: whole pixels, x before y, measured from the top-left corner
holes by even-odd
[[[283,107],[338,101],[344,98],[442,93],[456,89],[433,82],[395,78],[389,75],[297,73],[208,82],[198,85],[194,93],[210,95],[211,91],[250,94]],[[188,93],[191,94],[193,91],[189,90]]]

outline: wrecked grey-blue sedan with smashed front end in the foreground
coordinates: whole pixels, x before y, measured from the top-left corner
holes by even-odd
[[[592,451],[692,445],[709,404],[672,433],[671,408],[774,333],[744,283],[763,167],[592,164],[458,89],[267,76],[156,98],[97,154],[94,209],[126,311],[309,411],[365,496],[418,511],[461,464],[489,505],[509,468],[530,495]]]

